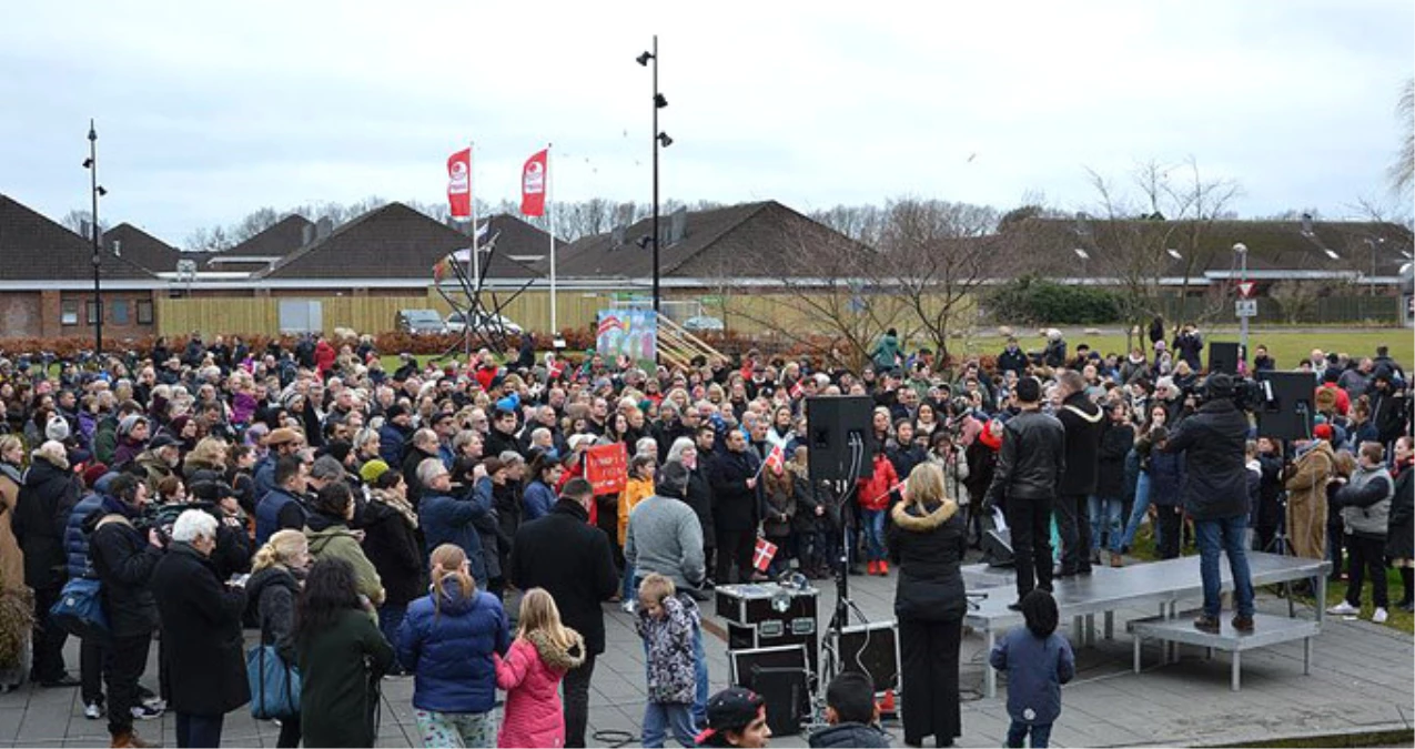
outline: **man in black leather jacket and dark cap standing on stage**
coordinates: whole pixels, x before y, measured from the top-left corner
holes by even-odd
[[[1051,504],[1065,471],[1065,428],[1041,413],[1041,384],[1023,377],[1013,391],[1020,412],[1002,430],[998,467],[983,507],[1002,507],[1017,564],[1017,609],[1034,588],[1051,590]]]

